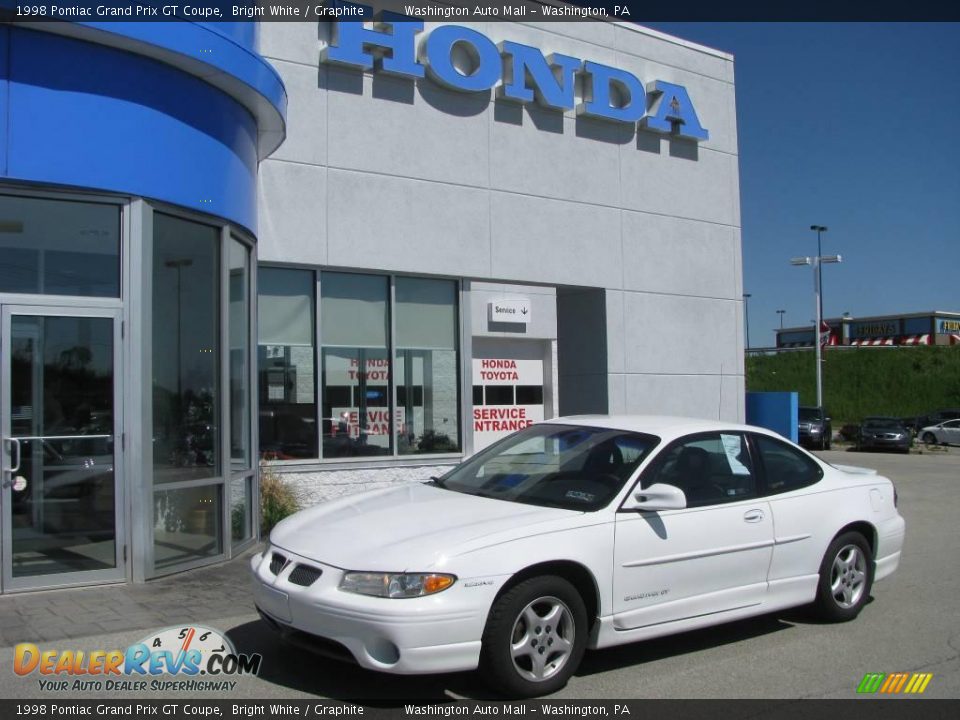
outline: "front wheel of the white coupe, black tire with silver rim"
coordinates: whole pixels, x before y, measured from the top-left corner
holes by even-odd
[[[531,613],[542,621],[531,622]],[[560,622],[550,625],[544,613],[555,613]],[[480,654],[484,680],[509,698],[556,692],[580,665],[587,630],[583,598],[568,581],[555,575],[524,580],[497,598],[490,610]],[[531,649],[515,655],[512,648],[521,638],[523,647],[529,639]],[[539,667],[534,658],[543,658]]]

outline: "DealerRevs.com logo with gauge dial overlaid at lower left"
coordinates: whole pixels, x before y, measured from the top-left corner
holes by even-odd
[[[219,630],[189,625],[151,633],[126,650],[41,649],[20,643],[14,648],[13,671],[21,677],[39,675],[39,689],[49,692],[229,691],[237,685],[230,678],[256,675],[262,661],[258,653],[238,653]]]

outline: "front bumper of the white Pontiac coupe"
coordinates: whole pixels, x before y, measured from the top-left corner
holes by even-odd
[[[251,559],[254,602],[297,644],[334,657],[339,646],[362,667],[397,674],[457,672],[479,664],[483,626],[500,583],[465,588],[461,581],[423,598],[368,597],[339,590],[343,570],[277,550],[288,562],[276,575],[263,553]],[[308,586],[291,582],[301,565],[322,574]]]

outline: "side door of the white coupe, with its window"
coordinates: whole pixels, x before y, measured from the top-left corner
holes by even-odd
[[[687,507],[617,514],[615,628],[763,602],[773,522],[769,504],[758,498],[754,467],[740,432],[687,436],[654,459],[631,492],[667,483],[684,491]]]

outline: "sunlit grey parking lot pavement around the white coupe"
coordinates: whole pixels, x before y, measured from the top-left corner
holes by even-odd
[[[793,610],[590,652],[554,697],[853,698],[868,672],[933,673],[924,697],[960,697],[960,449],[818,455],[890,477],[907,521],[900,569],[875,586],[857,620],[825,625]],[[230,698],[330,697],[377,704],[489,697],[476,673],[390,676],[280,643],[253,611],[248,558],[145,585],[0,598],[0,698],[44,696],[36,675],[12,672],[15,643],[109,650],[186,622],[224,630],[239,652],[263,655],[260,675],[240,678]],[[164,696],[138,696],[151,694]],[[167,693],[173,694],[183,696]],[[118,697],[106,691],[72,695]]]

